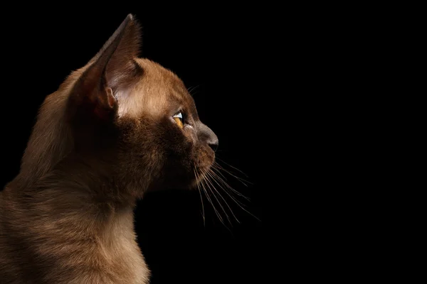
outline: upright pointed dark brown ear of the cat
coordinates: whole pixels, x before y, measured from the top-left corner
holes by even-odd
[[[141,71],[134,61],[139,43],[139,24],[129,14],[75,82],[69,101],[72,113],[83,110],[100,119],[115,114],[115,92],[128,87]]]

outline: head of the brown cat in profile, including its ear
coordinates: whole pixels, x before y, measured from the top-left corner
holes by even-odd
[[[47,171],[67,155],[81,155],[107,165],[107,173],[135,196],[196,185],[214,163],[218,138],[200,121],[179,77],[137,58],[139,42],[139,24],[128,15],[100,52],[46,98],[21,171]],[[62,116],[58,124],[55,112]],[[49,163],[43,162],[46,151],[38,150],[48,147],[42,139],[53,143],[47,136],[56,141],[45,157]]]

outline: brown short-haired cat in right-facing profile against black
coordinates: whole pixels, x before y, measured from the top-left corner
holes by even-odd
[[[0,192],[1,283],[149,283],[135,201],[194,187],[218,138],[183,82],[138,50],[129,15],[43,102],[20,173]]]

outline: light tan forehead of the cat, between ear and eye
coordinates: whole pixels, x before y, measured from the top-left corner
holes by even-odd
[[[135,62],[143,72],[134,87],[117,93],[120,116],[157,116],[174,108],[184,108],[196,115],[193,98],[174,72],[145,58],[135,58]]]

